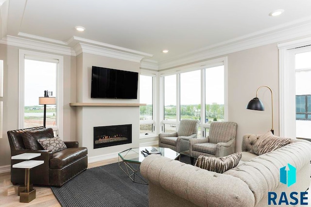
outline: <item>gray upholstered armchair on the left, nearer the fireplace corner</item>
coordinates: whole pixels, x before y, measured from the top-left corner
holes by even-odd
[[[197,138],[198,127],[198,120],[181,120],[177,132],[159,134],[159,147],[170,148],[176,152],[189,150],[189,140]]]

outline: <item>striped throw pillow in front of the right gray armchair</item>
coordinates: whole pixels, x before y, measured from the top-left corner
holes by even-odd
[[[242,157],[242,153],[238,152],[232,155],[228,155],[222,158],[207,157],[200,155],[195,162],[194,166],[197,166],[208,171],[216,173],[224,173],[231,168],[236,167]]]

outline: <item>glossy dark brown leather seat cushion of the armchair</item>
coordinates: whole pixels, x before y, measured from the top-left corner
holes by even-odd
[[[74,147],[62,149],[53,153],[53,158],[50,159],[50,168],[61,169],[66,165],[74,162],[87,155],[86,147]]]

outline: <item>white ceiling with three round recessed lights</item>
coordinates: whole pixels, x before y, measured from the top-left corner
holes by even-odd
[[[6,15],[2,37],[5,33],[71,48],[74,37],[146,53],[157,63],[311,21],[311,0],[1,1],[7,7],[7,14],[1,13]],[[285,12],[269,16],[276,9]]]

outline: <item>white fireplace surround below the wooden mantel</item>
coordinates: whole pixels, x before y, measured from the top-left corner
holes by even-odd
[[[117,158],[118,152],[139,147],[139,106],[76,107],[77,141],[87,147],[88,162]],[[94,127],[132,124],[132,143],[93,148]]]

